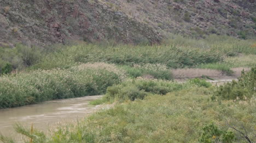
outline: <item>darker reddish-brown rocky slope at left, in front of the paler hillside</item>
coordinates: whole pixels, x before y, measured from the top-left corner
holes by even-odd
[[[141,42],[139,40],[158,43],[161,40],[161,36],[147,24],[100,2],[82,0],[1,0],[0,33],[2,42],[29,39],[42,46],[67,39],[114,39],[129,43]]]

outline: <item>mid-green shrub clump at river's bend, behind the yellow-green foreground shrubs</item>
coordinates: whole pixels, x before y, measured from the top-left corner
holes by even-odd
[[[179,91],[193,85],[208,87],[210,86],[208,84],[210,83],[199,81],[180,84],[166,80],[138,79],[108,87],[107,94],[103,96],[103,100],[105,102],[143,100],[144,97],[150,94],[166,95],[168,92]]]

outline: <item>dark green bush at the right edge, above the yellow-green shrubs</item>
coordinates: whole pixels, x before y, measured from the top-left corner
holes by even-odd
[[[255,96],[256,87],[256,70],[252,68],[251,71],[242,72],[242,76],[236,82],[226,83],[219,86],[215,92],[215,96],[219,96],[225,100],[247,100]],[[213,99],[216,98],[213,96]]]

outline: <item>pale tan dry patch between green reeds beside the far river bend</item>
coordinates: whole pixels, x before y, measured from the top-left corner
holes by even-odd
[[[236,79],[241,76],[242,70],[249,71],[248,67],[236,67],[231,70],[234,71],[232,76],[227,76],[224,72],[212,69],[173,69],[172,74],[175,79],[187,79],[207,76],[216,79]]]

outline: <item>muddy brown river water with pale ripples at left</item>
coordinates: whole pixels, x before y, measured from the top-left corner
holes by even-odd
[[[37,129],[48,131],[57,122],[69,122],[84,117],[99,109],[99,106],[89,102],[101,96],[85,96],[66,100],[47,101],[24,107],[0,109],[0,133],[16,136],[13,125],[16,122],[30,127],[31,123]]]

